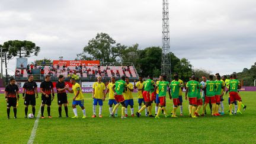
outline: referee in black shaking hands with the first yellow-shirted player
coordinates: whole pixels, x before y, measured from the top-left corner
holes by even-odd
[[[57,90],[57,103],[59,105],[59,117],[62,117],[62,104],[64,105],[66,117],[68,117],[68,98],[66,94],[66,86],[64,82],[64,76],[59,75],[59,81],[56,84]]]

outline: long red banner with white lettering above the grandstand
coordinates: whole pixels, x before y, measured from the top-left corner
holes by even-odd
[[[53,60],[53,66],[98,66],[100,60]]]

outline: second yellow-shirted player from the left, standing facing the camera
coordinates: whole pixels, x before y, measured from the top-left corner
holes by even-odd
[[[101,76],[98,76],[97,78],[97,82],[94,82],[94,84],[92,85],[92,98],[94,99],[93,102],[93,115],[92,117],[95,118],[96,117],[96,106],[97,104],[100,105],[100,113],[99,113],[99,117],[103,117],[102,116],[102,107],[103,107],[103,101],[105,101],[105,84],[103,82],[101,82]]]

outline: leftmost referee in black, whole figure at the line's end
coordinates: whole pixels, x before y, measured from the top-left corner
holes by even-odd
[[[17,119],[17,100],[19,100],[19,89],[18,86],[15,84],[15,79],[11,78],[9,84],[7,87],[5,87],[5,101],[7,101],[7,119],[9,119],[9,113],[11,107],[13,107],[14,110],[14,119]]]

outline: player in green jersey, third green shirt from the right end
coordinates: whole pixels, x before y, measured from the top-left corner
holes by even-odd
[[[203,114],[201,114],[201,116],[204,116],[204,111],[206,110],[206,106],[209,102],[212,103],[212,116],[213,116],[213,111],[215,110],[215,107],[216,107],[216,100],[215,100],[215,81],[213,81],[212,75],[209,76],[209,81],[206,82],[204,89],[206,89],[206,98],[204,101]]]

